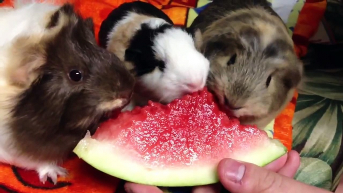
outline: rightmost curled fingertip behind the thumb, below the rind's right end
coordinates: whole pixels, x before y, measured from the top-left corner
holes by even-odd
[[[300,155],[295,150],[291,150],[288,152],[286,163],[277,173],[293,178],[299,166]]]

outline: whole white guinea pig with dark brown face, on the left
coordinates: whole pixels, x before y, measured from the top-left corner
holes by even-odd
[[[56,183],[66,174],[57,164],[129,101],[134,77],[70,4],[27,2],[0,14],[0,162]]]

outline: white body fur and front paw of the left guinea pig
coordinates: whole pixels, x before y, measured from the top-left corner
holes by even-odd
[[[17,37],[28,35],[42,35],[47,19],[52,11],[59,6],[47,3],[30,3],[27,0],[17,0],[14,8],[0,8],[0,162],[9,163],[18,167],[34,169],[38,172],[42,182],[47,177],[56,182],[57,175],[66,174],[66,170],[57,166],[55,162],[40,162],[18,153],[13,145],[9,121],[9,104],[20,92],[20,88],[11,85],[5,78],[8,52],[12,42]]]

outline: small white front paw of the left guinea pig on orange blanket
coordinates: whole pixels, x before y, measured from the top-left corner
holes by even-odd
[[[63,167],[57,166],[57,165],[43,165],[37,169],[39,180],[42,183],[45,183],[47,180],[47,177],[50,177],[53,184],[57,183],[57,176],[66,176],[67,170]]]

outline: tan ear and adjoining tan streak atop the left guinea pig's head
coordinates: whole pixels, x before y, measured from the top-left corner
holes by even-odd
[[[71,19],[60,11],[56,11],[50,17],[51,20],[46,20],[46,27],[49,29],[46,33],[18,37],[10,47],[6,75],[10,76],[7,78],[13,84],[27,88],[37,79],[38,68],[46,62],[46,43],[53,40]]]

